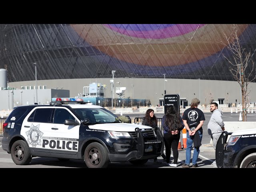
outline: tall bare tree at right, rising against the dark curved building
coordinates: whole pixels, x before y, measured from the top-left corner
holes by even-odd
[[[247,109],[250,105],[248,101],[248,95],[251,92],[251,88],[248,88],[248,84],[256,79],[256,70],[254,68],[254,61],[252,60],[253,54],[251,50],[246,52],[245,48],[242,47],[238,36],[238,26],[233,25],[233,32],[230,36],[225,34],[225,42],[221,41],[224,46],[232,53],[232,57],[229,59],[224,54],[224,58],[231,65],[229,70],[238,82],[242,93],[242,111],[243,111],[243,121],[247,121]],[[248,66],[251,66],[252,70],[246,70]]]

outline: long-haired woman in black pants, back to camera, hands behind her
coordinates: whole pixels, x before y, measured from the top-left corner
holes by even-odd
[[[180,114],[178,114],[176,108],[173,105],[170,105],[167,108],[166,114],[162,118],[162,127],[164,128],[166,166],[177,167],[180,131],[184,128],[184,124]],[[174,158],[173,163],[170,161],[171,148]]]

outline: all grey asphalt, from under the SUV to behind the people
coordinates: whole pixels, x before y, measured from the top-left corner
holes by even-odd
[[[126,114],[123,114],[126,115]],[[143,117],[144,114],[128,114],[131,118],[134,117]],[[164,114],[156,114],[157,117],[162,117]],[[198,157],[198,168],[216,168],[216,166],[212,166],[211,163],[215,159],[215,150],[210,143],[210,136],[207,133],[207,124],[210,120],[211,113],[204,113],[205,122],[203,125],[203,138],[202,138],[202,146],[200,147],[200,154]],[[222,116],[224,122],[225,121],[238,121],[239,114],[236,113],[224,113]],[[248,122],[256,121],[256,114],[248,114]],[[193,151],[192,151],[193,155]],[[186,159],[186,150],[179,151],[178,157],[178,167],[182,168],[181,165],[185,162]],[[162,157],[158,157],[158,160],[162,162],[161,164],[153,164],[152,160],[149,160],[146,164],[142,166],[134,166],[130,162],[126,163],[111,163],[108,166],[108,169],[114,168],[174,168],[170,166],[166,166]],[[173,160],[173,156],[171,155],[171,160]],[[191,166],[191,163],[190,163]],[[14,164],[12,161],[11,155],[2,150],[1,145],[1,137],[0,137],[0,168],[87,168],[85,163],[82,160],[69,160],[67,162],[60,162],[57,158],[45,158],[45,157],[34,157],[32,158],[30,164],[20,166]],[[186,168],[182,168],[186,169]]]

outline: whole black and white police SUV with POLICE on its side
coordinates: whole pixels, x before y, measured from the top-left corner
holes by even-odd
[[[145,164],[163,153],[159,128],[120,123],[107,109],[84,101],[18,106],[3,124],[2,148],[17,165],[32,157],[84,160],[88,168],[109,162]]]

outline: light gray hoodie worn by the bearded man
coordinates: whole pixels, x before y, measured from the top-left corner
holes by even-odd
[[[212,116],[208,123],[208,133],[220,135],[223,131],[224,122],[222,120],[222,111],[220,109],[216,109],[212,112]]]

